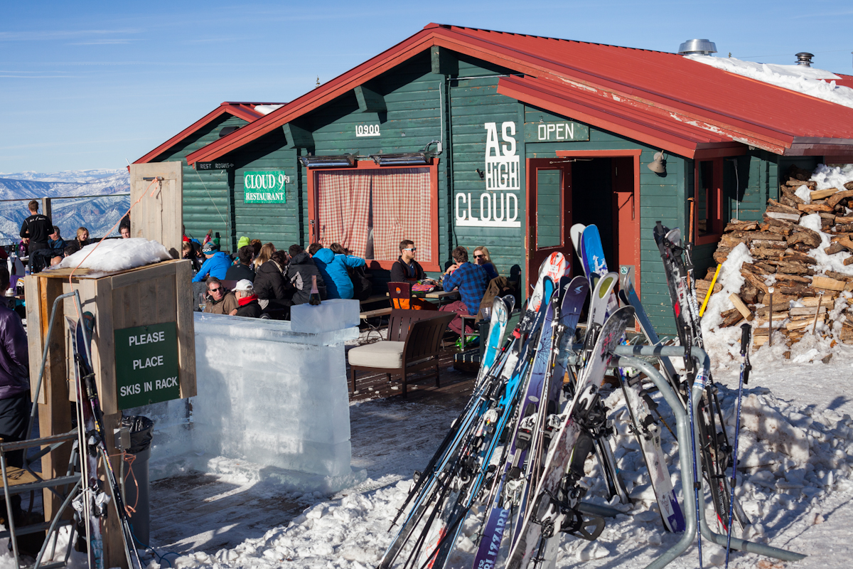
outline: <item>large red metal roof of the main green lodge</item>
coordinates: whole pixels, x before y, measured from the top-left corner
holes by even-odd
[[[500,79],[503,95],[674,154],[693,158],[699,149],[740,142],[775,154],[853,155],[850,107],[676,54],[429,24],[187,159],[193,163],[227,154],[433,45],[523,74]]]

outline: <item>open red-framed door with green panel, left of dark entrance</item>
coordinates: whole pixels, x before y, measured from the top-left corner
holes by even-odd
[[[531,159],[527,165],[527,295],[536,284],[539,265],[559,251],[572,263],[572,164]],[[525,295],[526,296],[526,295]]]

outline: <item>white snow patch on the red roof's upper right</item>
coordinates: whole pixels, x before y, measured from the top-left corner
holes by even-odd
[[[773,84],[853,108],[853,89],[835,84],[835,79],[841,79],[841,77],[823,69],[804,65],[756,63],[734,59],[734,57],[711,57],[711,55],[685,55],[685,57],[729,73],[736,73],[763,83]],[[827,79],[829,80],[828,83]]]

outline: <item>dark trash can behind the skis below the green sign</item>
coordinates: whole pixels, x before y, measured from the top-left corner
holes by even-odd
[[[137,540],[136,547],[141,547],[140,542],[148,545],[151,536],[148,460],[151,458],[154,421],[142,415],[131,415],[122,417],[121,425],[131,429],[131,447],[127,452],[133,455],[134,459],[131,462],[131,472],[125,474],[125,504],[136,510],[130,514],[130,522]]]

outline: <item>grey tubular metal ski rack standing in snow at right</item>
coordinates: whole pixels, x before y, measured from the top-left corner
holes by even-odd
[[[662,569],[664,566],[670,564],[672,560],[675,560],[676,557],[684,553],[685,550],[688,549],[691,543],[693,543],[693,538],[696,535],[696,527],[699,525],[699,531],[701,532],[701,536],[705,537],[705,539],[717,543],[717,545],[722,545],[722,547],[726,547],[727,536],[711,531],[711,528],[708,526],[707,521],[705,520],[705,503],[702,503],[701,512],[702,515],[699,520],[696,520],[696,503],[694,501],[694,494],[692,491],[685,490],[684,480],[693,479],[693,456],[690,453],[681,452],[681,449],[688,449],[691,447],[691,444],[685,443],[682,444],[682,441],[690,441],[690,422],[688,419],[687,411],[684,409],[684,406],[681,403],[681,400],[676,396],[676,393],[672,391],[672,387],[670,386],[670,382],[665,380],[664,377],[660,374],[660,372],[655,369],[651,363],[648,363],[645,360],[640,359],[640,357],[688,357],[685,353],[684,348],[681,346],[668,346],[668,345],[620,345],[614,351],[616,354],[616,358],[613,358],[610,367],[612,368],[635,368],[640,369],[644,374],[646,374],[647,378],[653,382],[655,386],[658,387],[659,392],[666,400],[666,403],[670,405],[670,409],[674,415],[676,415],[676,432],[678,439],[678,460],[682,469],[682,494],[684,500],[684,521],[685,521],[685,530],[682,534],[681,539],[673,545],[670,549],[664,551],[656,560],[653,560],[646,566],[646,569]],[[708,357],[708,354],[705,350],[702,350],[699,347],[693,347],[690,349],[690,357],[693,357],[694,360],[699,364],[699,374],[698,377],[702,377],[702,372],[705,372],[704,376],[707,377],[711,370],[711,358]],[[693,421],[696,421],[697,409],[699,406],[699,398],[702,397],[702,393],[705,391],[705,385],[696,381],[693,383]],[[694,429],[699,429],[698,425],[693,424]],[[693,444],[693,455],[699,457],[699,440],[698,438],[694,441]],[[699,476],[699,484],[704,485],[704,477]],[[704,487],[700,489],[701,495],[705,495]],[[767,557],[773,557],[778,560],[783,561],[797,561],[805,558],[804,554],[798,554],[793,551],[788,551],[786,549],[779,549],[769,545],[764,545],[763,543],[754,543],[750,541],[746,541],[746,539],[739,539],[737,537],[731,538],[731,549],[737,549],[739,551],[746,551],[747,553],[754,553],[765,555]]]

